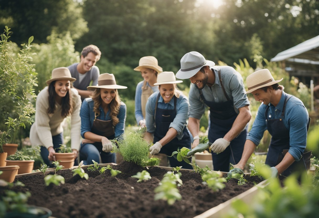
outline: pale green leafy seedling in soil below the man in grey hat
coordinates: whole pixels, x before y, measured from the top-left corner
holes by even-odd
[[[219,191],[225,188],[226,178],[221,177],[221,174],[218,171],[206,171],[203,176],[203,184],[207,184],[213,191]]]

